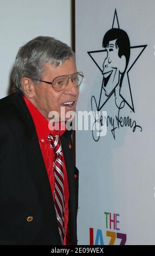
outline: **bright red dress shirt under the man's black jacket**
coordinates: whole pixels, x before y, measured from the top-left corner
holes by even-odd
[[[27,104],[27,107],[30,111],[31,117],[33,118],[38,142],[40,143],[40,148],[44,160],[44,164],[46,166],[48,179],[50,183],[51,193],[53,194],[54,199],[54,189],[55,189],[55,183],[54,183],[54,172],[53,172],[53,162],[54,162],[54,150],[53,148],[50,148],[50,141],[47,140],[47,137],[50,135],[55,136],[58,133],[60,133],[60,136],[63,135],[63,133],[66,131],[64,130],[65,124],[63,125],[63,130],[49,130],[48,127],[48,120],[44,118],[44,116],[41,114],[40,111],[28,100],[27,97],[23,96],[25,103]],[[69,188],[68,188],[68,178],[67,178],[67,171],[66,171],[66,165],[64,162],[64,156],[63,156],[63,174],[64,174],[64,241],[63,245],[70,245],[70,237],[68,232],[68,199],[69,199]]]

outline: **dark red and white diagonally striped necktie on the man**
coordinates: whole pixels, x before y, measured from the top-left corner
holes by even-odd
[[[64,176],[63,176],[63,157],[60,136],[51,135],[47,138],[50,141],[50,147],[53,148],[55,153],[54,160],[54,178],[55,178],[55,198],[54,205],[56,210],[57,223],[59,227],[59,233],[61,242],[64,239]]]

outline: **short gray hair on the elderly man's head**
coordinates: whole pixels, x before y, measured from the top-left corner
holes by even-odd
[[[37,36],[23,45],[17,53],[12,74],[15,91],[20,90],[23,94],[22,77],[34,77],[41,80],[44,64],[60,66],[70,58],[75,59],[75,53],[68,45],[50,36]],[[38,83],[38,81],[34,81]]]

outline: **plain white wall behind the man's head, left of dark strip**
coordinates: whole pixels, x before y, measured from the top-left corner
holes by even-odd
[[[70,0],[0,0],[0,98],[8,94],[18,48],[38,35],[71,45]]]

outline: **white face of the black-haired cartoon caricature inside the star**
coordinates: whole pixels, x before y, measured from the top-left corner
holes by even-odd
[[[125,56],[122,55],[119,57],[118,55],[119,48],[115,45],[116,41],[117,39],[109,41],[106,47],[107,57],[104,61],[102,72],[104,75],[103,88],[106,96],[109,96],[115,87],[118,86],[121,74],[124,72],[126,66]]]

